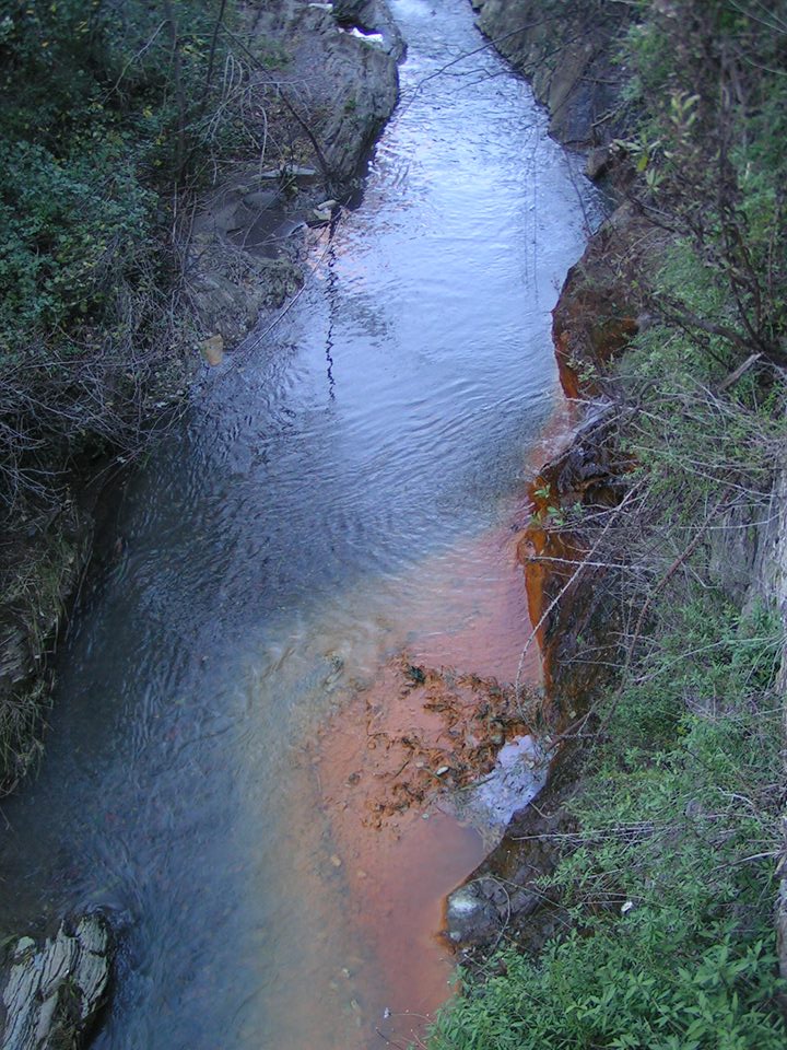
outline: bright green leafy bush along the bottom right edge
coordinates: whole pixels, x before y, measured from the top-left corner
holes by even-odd
[[[641,917],[642,919],[642,917]],[[777,989],[763,941],[729,933],[684,956],[680,926],[632,918],[615,932],[572,934],[538,965],[515,953],[505,977],[441,1018],[434,1050],[778,1050],[782,1023],[763,1012]],[[766,975],[766,976],[764,976]]]

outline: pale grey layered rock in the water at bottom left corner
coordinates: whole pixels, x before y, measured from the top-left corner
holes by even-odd
[[[20,937],[0,976],[3,1050],[80,1047],[106,1001],[113,954],[98,913],[63,922],[40,946]]]

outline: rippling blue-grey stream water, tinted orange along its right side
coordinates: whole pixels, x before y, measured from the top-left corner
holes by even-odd
[[[587,190],[491,50],[432,75],[482,43],[465,0],[392,7],[402,103],[363,203],[118,493],[122,556],[3,806],[2,928],[121,929],[102,1050],[377,1047],[385,1008],[448,994],[442,899],[480,839],[437,812],[353,839],[322,775],[391,653],[514,675],[510,529]]]

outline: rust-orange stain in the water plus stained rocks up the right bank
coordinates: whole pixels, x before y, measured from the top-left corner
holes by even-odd
[[[510,527],[442,556],[442,568],[419,567],[412,587],[426,584],[428,600],[409,610],[407,628],[391,630],[372,684],[348,697],[317,745],[331,863],[343,873],[349,913],[376,960],[364,973],[359,1046],[365,1048],[379,1046],[380,1036],[395,1046],[418,1041],[447,998],[450,954],[438,935],[444,900],[485,851],[475,832],[441,812],[441,793],[490,769],[501,745],[527,732],[526,713],[553,728],[574,715],[573,701],[563,713],[551,710],[561,630],[569,625],[578,639],[587,611],[566,586],[586,546],[563,523],[575,502],[612,506],[618,495],[610,488],[614,469],[563,483],[554,456],[571,439],[571,402],[594,393],[637,331],[624,298],[619,303],[611,294],[615,280],[612,273],[610,288],[598,290],[582,264],[569,271],[552,329],[568,401],[525,465],[538,476]],[[547,699],[528,710],[515,680],[531,690],[531,701],[536,686]]]

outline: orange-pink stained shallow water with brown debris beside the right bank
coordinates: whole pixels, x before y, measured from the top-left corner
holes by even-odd
[[[569,425],[563,402],[528,457],[530,476]],[[399,1046],[421,1038],[450,994],[445,898],[486,850],[441,809],[441,795],[483,775],[503,743],[528,732],[542,668],[539,645],[521,662],[522,646],[552,593],[549,571],[528,552],[557,541],[540,523],[536,488],[522,492],[509,524],[411,571],[419,600],[406,622],[391,618],[387,655],[351,687],[309,756],[330,871],[365,946],[366,965],[353,976],[364,1050],[383,1046],[380,1036]]]

